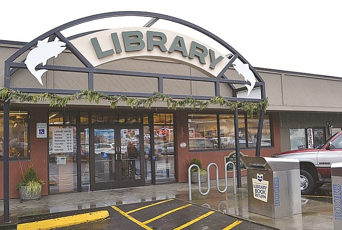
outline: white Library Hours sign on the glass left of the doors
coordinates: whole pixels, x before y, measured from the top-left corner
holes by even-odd
[[[74,152],[74,130],[72,128],[54,129],[52,137],[53,153]]]

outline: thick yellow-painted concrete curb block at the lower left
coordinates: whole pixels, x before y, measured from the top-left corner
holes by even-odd
[[[20,224],[17,224],[17,230],[52,229],[52,228],[58,228],[58,227],[66,227],[66,226],[80,224],[80,223],[87,223],[87,222],[91,222],[95,220],[102,220],[107,217],[109,217],[109,213],[107,210],[89,212],[89,213],[65,216],[65,217],[54,218],[54,219],[39,220],[39,221],[34,221],[34,222],[29,222],[29,223],[20,223]]]

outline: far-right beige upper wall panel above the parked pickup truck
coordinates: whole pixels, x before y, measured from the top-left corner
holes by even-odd
[[[342,106],[342,100],[336,100],[342,95],[341,80],[285,75],[283,83],[285,105]]]

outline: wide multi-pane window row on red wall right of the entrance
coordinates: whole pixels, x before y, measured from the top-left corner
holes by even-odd
[[[219,123],[217,123],[217,116]],[[258,116],[252,118],[247,117],[245,114],[238,115],[240,148],[256,147],[258,124]],[[190,151],[235,148],[233,114],[188,114],[188,126]],[[246,128],[248,129],[248,135],[246,135]],[[268,115],[265,115],[263,121],[261,147],[264,146],[272,146],[270,118]]]

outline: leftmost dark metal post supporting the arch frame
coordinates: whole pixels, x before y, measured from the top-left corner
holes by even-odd
[[[10,221],[10,165],[9,146],[10,140],[10,102],[4,102],[4,223]]]

